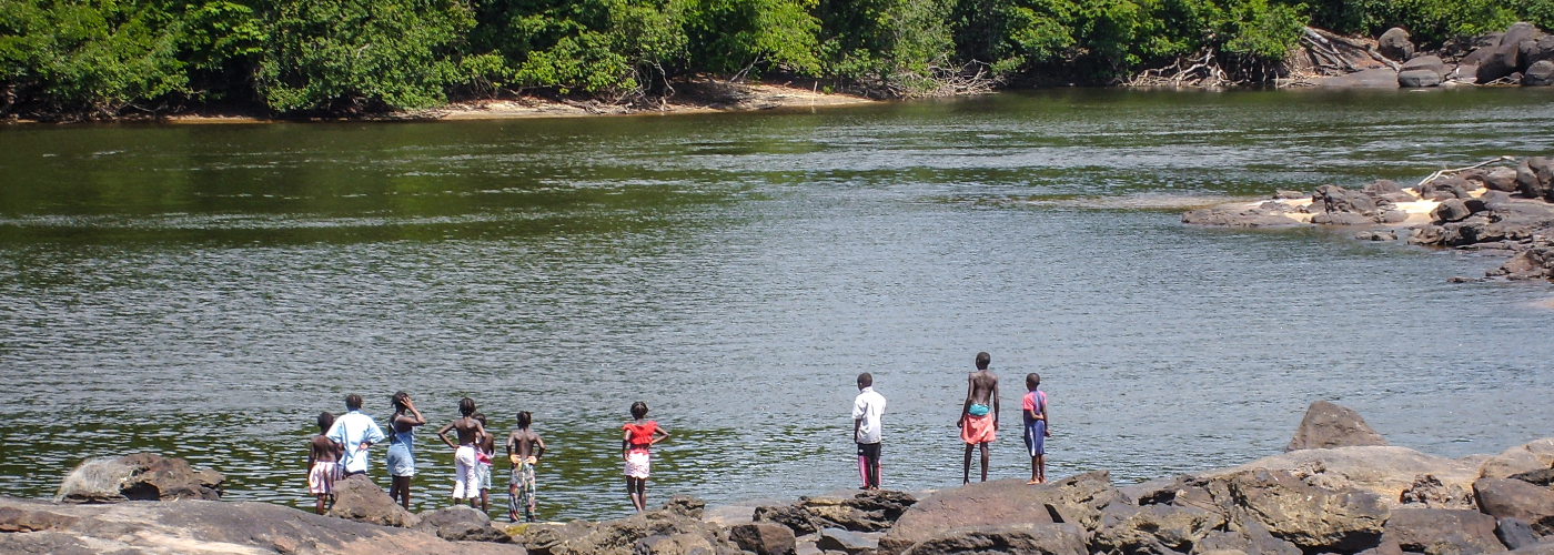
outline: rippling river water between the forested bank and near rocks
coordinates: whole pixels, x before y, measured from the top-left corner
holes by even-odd
[[[1549,431],[1548,283],[1495,258],[1318,230],[1179,224],[1276,188],[1417,182],[1554,154],[1548,90],[1049,90],[864,107],[458,123],[0,127],[0,493],[82,459],[214,466],[308,507],[305,442],[356,392],[430,434],[469,395],[552,452],[544,518],[625,515],[618,424],[673,432],[650,502],[856,487],[859,372],[886,487],[959,483],[977,351],[1004,376],[995,477],[1119,482],[1274,454],[1305,406],[1392,443],[1493,452]],[[387,483],[382,446],[373,476]],[[499,473],[493,515],[505,504]]]

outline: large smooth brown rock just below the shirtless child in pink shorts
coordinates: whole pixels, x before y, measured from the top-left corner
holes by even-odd
[[[1007,524],[1100,525],[1100,510],[1122,499],[1106,471],[1085,473],[1041,485],[1024,480],[991,480],[940,490],[912,508],[880,538],[881,553],[894,555],[954,529]],[[1061,524],[1058,522],[1058,524]]]

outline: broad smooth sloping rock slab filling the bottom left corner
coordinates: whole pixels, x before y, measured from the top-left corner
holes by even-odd
[[[3,553],[525,553],[511,544],[446,541],[263,502],[79,505],[0,497],[0,515],[34,515],[31,525],[54,522],[42,532],[0,533]]]

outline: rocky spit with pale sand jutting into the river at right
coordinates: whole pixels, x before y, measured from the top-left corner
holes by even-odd
[[[1270,201],[1192,210],[1181,221],[1211,227],[1340,225],[1364,241],[1476,250],[1509,260],[1483,278],[1554,278],[1554,160],[1509,157],[1442,169],[1417,187],[1377,180],[1358,190],[1322,185]]]

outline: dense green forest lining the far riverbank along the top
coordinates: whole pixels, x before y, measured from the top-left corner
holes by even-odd
[[[0,0],[0,117],[632,103],[692,76],[912,96],[1183,56],[1268,76],[1307,25],[1428,47],[1515,20],[1554,28],[1554,0]]]

